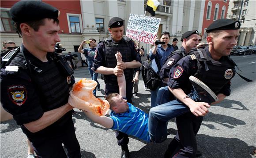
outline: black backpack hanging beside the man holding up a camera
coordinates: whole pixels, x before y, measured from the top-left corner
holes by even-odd
[[[144,85],[150,90],[155,90],[158,86],[160,86],[161,79],[157,72],[155,72],[151,67],[151,60],[149,59],[149,56],[147,56],[147,59],[147,61],[143,61],[142,63],[141,75],[144,81]],[[157,56],[155,60],[158,61]]]

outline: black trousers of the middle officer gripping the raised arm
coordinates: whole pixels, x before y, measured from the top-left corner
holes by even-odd
[[[126,99],[132,104],[132,81],[126,81]],[[110,93],[119,93],[119,87],[117,84],[105,84],[105,93],[109,95]],[[129,143],[128,134],[116,131],[117,144],[121,147],[126,147]]]

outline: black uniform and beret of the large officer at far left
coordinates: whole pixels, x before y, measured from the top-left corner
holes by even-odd
[[[20,1],[11,8],[11,16],[17,21],[20,15],[28,14],[30,20],[33,12],[27,11],[34,6],[40,18],[57,18],[58,10],[41,1]],[[17,10],[16,10],[17,9]],[[34,11],[34,9],[32,9]],[[35,15],[37,16],[37,15]],[[36,20],[38,17],[31,17]],[[25,22],[21,18],[22,22]],[[24,20],[24,21],[23,21]],[[23,124],[38,120],[44,112],[59,108],[68,103],[69,88],[75,83],[72,75],[67,75],[52,56],[47,54],[47,62],[42,62],[32,55],[22,44],[17,48],[7,65],[1,65],[1,104],[13,115],[33,144],[40,157],[65,158],[62,144],[65,145],[70,158],[80,158],[80,146],[75,136],[72,111],[67,112],[52,125],[32,133]],[[67,62],[65,64],[68,65]]]

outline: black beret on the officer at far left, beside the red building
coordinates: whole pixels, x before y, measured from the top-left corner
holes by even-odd
[[[21,0],[11,7],[10,14],[14,22],[30,22],[58,18],[59,11],[41,0]]]

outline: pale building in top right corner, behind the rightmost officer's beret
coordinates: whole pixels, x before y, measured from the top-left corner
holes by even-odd
[[[227,18],[241,22],[238,46],[256,45],[256,1],[231,0]]]

